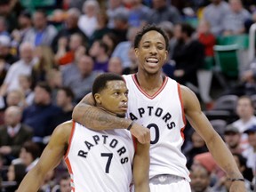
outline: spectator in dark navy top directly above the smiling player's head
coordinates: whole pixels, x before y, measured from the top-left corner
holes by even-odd
[[[152,0],[153,12],[148,17],[149,24],[159,24],[168,20],[173,24],[180,23],[180,12],[171,4],[167,6],[167,0]]]

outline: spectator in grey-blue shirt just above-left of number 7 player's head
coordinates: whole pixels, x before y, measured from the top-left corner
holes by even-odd
[[[92,83],[99,75],[98,71],[93,71],[92,57],[84,55],[77,62],[78,73],[76,76],[69,76],[65,86],[72,89],[75,94],[75,101],[80,101],[84,95],[92,92]]]

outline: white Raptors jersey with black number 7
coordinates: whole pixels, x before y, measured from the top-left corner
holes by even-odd
[[[127,192],[134,146],[124,129],[94,132],[73,123],[65,162],[73,192]]]

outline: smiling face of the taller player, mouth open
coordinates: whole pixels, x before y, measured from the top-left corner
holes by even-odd
[[[140,70],[151,75],[161,72],[168,53],[165,48],[166,44],[162,34],[155,30],[144,34],[139,47],[135,49]]]

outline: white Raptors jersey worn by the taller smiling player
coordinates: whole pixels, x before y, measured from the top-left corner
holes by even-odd
[[[173,174],[188,181],[187,159],[181,153],[186,124],[180,98],[180,84],[165,76],[162,87],[153,96],[140,88],[136,76],[124,76],[129,90],[127,117],[150,129],[149,178]]]

